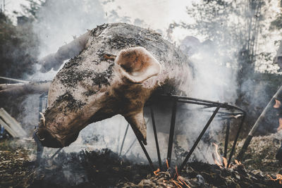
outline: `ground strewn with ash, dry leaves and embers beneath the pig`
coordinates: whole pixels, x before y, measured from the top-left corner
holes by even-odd
[[[149,165],[133,163],[109,149],[60,152],[53,160],[44,157],[37,166],[32,139],[6,139],[0,142],[0,187],[185,187],[185,183],[190,187],[281,187],[268,176],[275,178],[282,166],[275,159],[281,136],[277,132],[254,137],[243,165],[223,168],[192,162],[178,172],[179,177],[165,163],[163,172],[153,175]]]

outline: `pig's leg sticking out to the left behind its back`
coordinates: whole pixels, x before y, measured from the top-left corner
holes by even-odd
[[[42,73],[47,73],[49,70],[51,70],[51,68],[58,70],[63,64],[63,61],[68,58],[77,56],[78,54],[80,54],[80,51],[82,51],[82,49],[85,49],[89,37],[90,32],[87,32],[84,35],[81,35],[80,37],[74,39],[72,42],[61,46],[56,53],[49,54],[48,56],[40,59],[39,64],[42,65],[40,71]]]

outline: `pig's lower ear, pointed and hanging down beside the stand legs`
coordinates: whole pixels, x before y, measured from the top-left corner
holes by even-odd
[[[147,125],[144,119],[143,111],[133,115],[125,116],[125,120],[127,120],[132,127],[136,137],[142,140],[143,144],[147,145]]]

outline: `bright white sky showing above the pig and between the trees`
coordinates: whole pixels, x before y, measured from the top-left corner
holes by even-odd
[[[13,11],[18,11],[19,13],[23,13],[21,10],[20,4],[28,4],[27,0],[0,0],[0,5],[6,1],[6,13],[13,18],[14,23],[16,23],[16,15],[13,14]],[[85,0],[80,0],[85,1]],[[112,11],[119,17],[128,17],[130,23],[135,24],[135,20],[142,20],[142,27],[149,27],[153,30],[160,30],[164,36],[166,36],[166,29],[170,23],[176,22],[184,22],[184,23],[192,23],[192,19],[188,17],[186,13],[186,7],[191,6],[192,2],[196,2],[197,0],[187,1],[187,0],[178,0],[170,1],[170,0],[99,0],[103,6],[105,17],[109,18],[112,15]],[[199,0],[198,0],[199,1]],[[103,3],[103,2],[106,2]],[[273,3],[274,1],[269,1],[269,11],[270,15],[276,15],[280,9],[277,4]],[[278,1],[277,1],[278,2]],[[272,16],[272,17],[273,17]],[[266,16],[267,17],[267,16]],[[92,29],[92,28],[88,28]],[[85,32],[85,31],[84,31]],[[269,31],[267,31],[269,32]],[[75,33],[73,35],[81,35],[81,33]],[[187,35],[195,35],[192,33],[188,33],[187,30],[180,29],[179,27],[173,30],[173,41],[176,44],[179,44],[180,40],[182,40]],[[259,46],[262,48],[258,49],[259,53],[269,49],[269,52],[274,53],[277,49],[277,46],[273,45],[273,39],[280,37],[273,37],[271,34],[268,34],[269,37],[267,39],[262,39],[259,41]],[[275,34],[277,35],[277,34]],[[280,36],[280,33],[279,33]],[[69,36],[69,40],[71,40],[72,36]],[[197,35],[201,42],[204,41],[204,37]],[[66,40],[65,42],[69,42]],[[266,47],[267,46],[267,47]],[[262,63],[263,64],[263,63]],[[264,66],[261,66],[262,69],[267,66],[267,62],[264,63]]]

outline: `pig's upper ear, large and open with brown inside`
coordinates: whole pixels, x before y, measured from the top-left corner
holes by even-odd
[[[133,83],[142,83],[161,72],[161,64],[143,47],[123,49],[115,59],[121,73]]]

